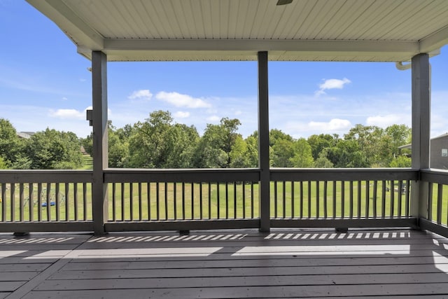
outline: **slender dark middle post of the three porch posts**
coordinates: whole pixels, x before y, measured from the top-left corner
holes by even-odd
[[[267,52],[258,52],[258,167],[260,167],[260,232],[270,230],[269,94]]]

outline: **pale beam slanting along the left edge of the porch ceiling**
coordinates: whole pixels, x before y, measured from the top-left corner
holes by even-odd
[[[61,0],[27,0],[38,11],[55,22],[76,46],[102,50],[104,38],[88,26]]]

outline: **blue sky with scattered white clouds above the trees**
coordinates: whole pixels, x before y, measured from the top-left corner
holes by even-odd
[[[90,61],[25,1],[0,0],[0,118],[18,131],[91,132]],[[448,47],[432,64],[431,136],[448,132]],[[257,129],[256,62],[110,62],[109,119],[116,127],[168,110],[176,123],[238,118]],[[342,136],[356,124],[411,125],[411,71],[394,63],[269,62],[269,127],[295,138]]]

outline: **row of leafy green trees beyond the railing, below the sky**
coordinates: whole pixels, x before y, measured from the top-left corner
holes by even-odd
[[[174,123],[169,111],[153,111],[146,120],[121,128],[109,121],[109,167],[258,167],[258,132],[243,138],[239,125],[237,118],[222,118],[200,136],[194,126]],[[299,168],[410,167],[409,156],[399,151],[410,137],[406,125],[355,125],[343,137],[314,134],[307,139],[272,129],[269,162],[271,167]],[[92,155],[92,134],[79,139],[72,132],[47,129],[21,139],[0,118],[0,169],[78,169],[81,145]]]

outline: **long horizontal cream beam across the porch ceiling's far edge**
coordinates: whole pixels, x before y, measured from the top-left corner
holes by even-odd
[[[291,41],[246,39],[105,39],[104,52],[111,60],[255,60],[258,51],[269,51],[270,60],[397,61],[419,53],[415,41]],[[78,52],[88,57],[87,49]],[[172,57],[169,57],[172,56]],[[112,58],[113,57],[113,58]],[[220,59],[221,57],[221,59]],[[273,59],[276,57],[276,59]],[[133,59],[134,58],[134,59]],[[144,59],[145,60],[145,59]]]

